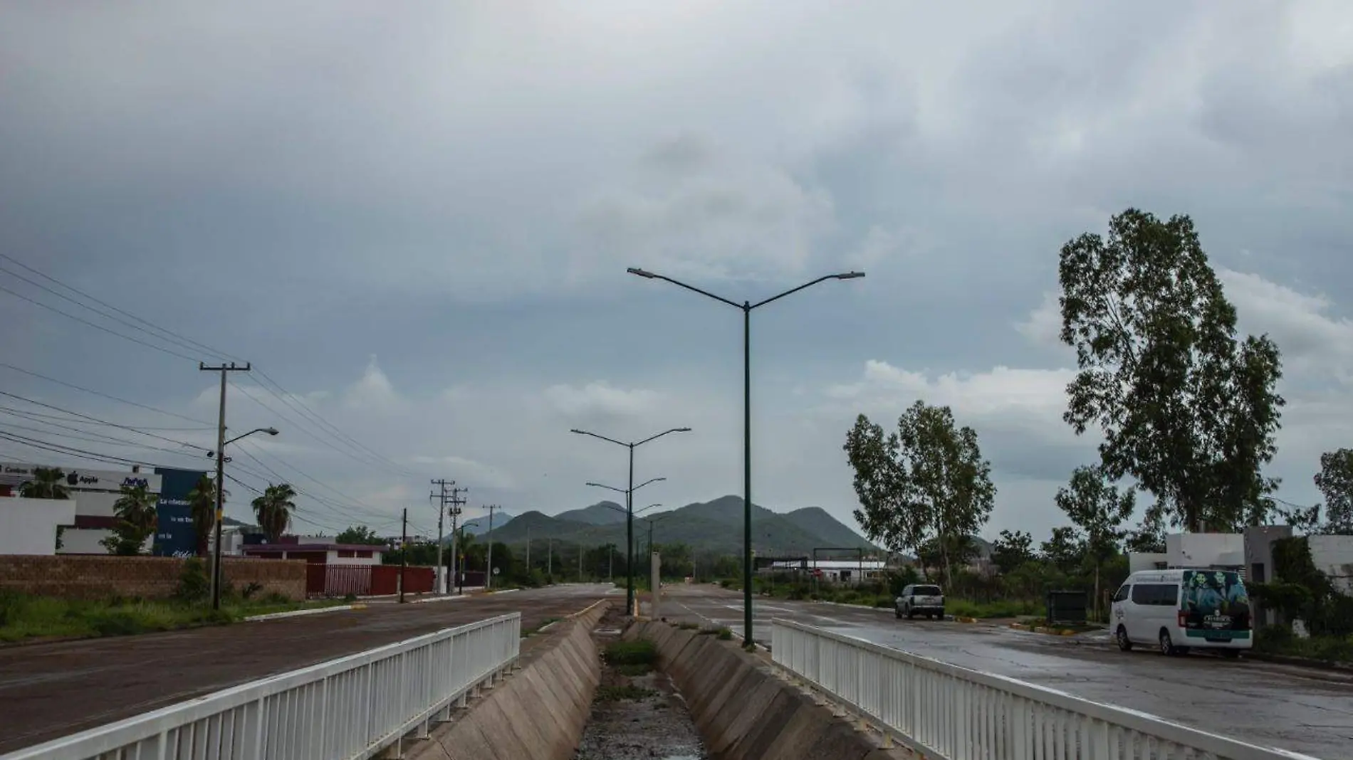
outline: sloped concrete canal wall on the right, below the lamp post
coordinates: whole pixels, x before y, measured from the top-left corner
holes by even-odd
[[[915,757],[901,748],[885,749],[881,734],[836,717],[736,642],[663,622],[632,625],[624,637],[658,645],[659,665],[681,688],[705,746],[718,760]]]

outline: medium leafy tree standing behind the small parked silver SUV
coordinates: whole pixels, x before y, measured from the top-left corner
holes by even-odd
[[[957,427],[948,407],[917,400],[894,433],[859,415],[844,449],[865,534],[893,552],[919,553],[934,541],[948,581],[954,548],[986,522],[996,499],[977,431]]]

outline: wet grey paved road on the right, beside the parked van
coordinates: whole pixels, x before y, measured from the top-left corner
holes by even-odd
[[[662,614],[743,630],[741,595],[712,586],[668,588]],[[1211,733],[1326,760],[1353,759],[1353,678],[1206,655],[1123,653],[1100,640],[1008,627],[898,621],[890,610],[756,599],[755,638],[786,618],[1085,699],[1164,715]]]

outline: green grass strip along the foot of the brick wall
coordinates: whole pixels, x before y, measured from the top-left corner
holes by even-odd
[[[340,602],[290,602],[269,596],[230,599],[221,610],[208,604],[147,599],[60,599],[0,592],[0,642],[50,637],[131,636],[202,625],[225,625],[250,615],[326,607]]]

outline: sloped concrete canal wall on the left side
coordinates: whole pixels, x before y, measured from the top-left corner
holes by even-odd
[[[521,656],[520,671],[453,711],[429,741],[411,751],[406,744],[406,757],[570,760],[601,682],[591,630],[609,604],[599,602],[551,626],[547,638]]]

